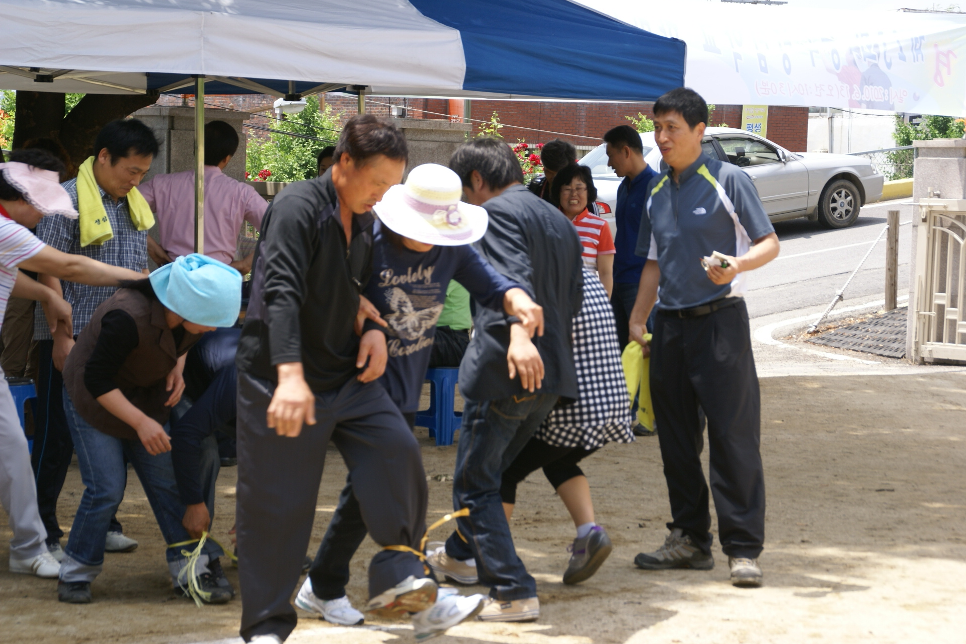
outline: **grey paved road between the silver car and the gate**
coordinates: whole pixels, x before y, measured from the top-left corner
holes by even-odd
[[[911,205],[899,200],[870,204],[851,227],[830,231],[806,219],[775,224],[781,239],[781,255],[749,276],[748,308],[752,318],[827,305],[886,224],[887,210],[899,210],[899,222],[912,220]],[[899,293],[909,288],[911,229],[899,227]],[[845,291],[850,299],[885,293],[886,240],[876,244],[862,270]]]

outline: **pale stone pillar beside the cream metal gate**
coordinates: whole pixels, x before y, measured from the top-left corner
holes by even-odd
[[[912,199],[936,197],[966,199],[966,139],[932,139],[913,141],[916,160],[913,165]],[[912,255],[909,262],[909,313],[906,322],[906,356],[913,354],[916,329],[916,253],[919,209],[913,207]]]

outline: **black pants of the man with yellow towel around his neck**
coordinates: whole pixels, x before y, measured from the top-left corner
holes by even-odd
[[[34,451],[30,455],[37,479],[37,509],[47,530],[47,544],[60,541],[64,531],[57,521],[57,499],[64,488],[73,457],[73,440],[64,415],[64,378],[54,368],[53,340],[37,343],[40,368],[37,373],[37,417],[34,419]],[[117,517],[111,518],[111,532],[122,532]]]

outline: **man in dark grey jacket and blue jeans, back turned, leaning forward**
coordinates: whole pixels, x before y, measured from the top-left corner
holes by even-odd
[[[477,250],[520,284],[544,310],[532,341],[515,318],[484,310],[460,367],[466,399],[453,477],[453,504],[469,508],[445,547],[427,562],[438,577],[490,586],[485,621],[532,621],[540,615],[536,582],[517,556],[499,498],[504,464],[512,462],[558,398],[577,398],[571,348],[581,309],[581,243],[559,210],[523,185],[520,164],[505,143],[477,138],[453,154],[466,201],[490,216]],[[509,365],[508,365],[509,363]],[[508,368],[509,367],[509,368]],[[520,379],[517,379],[519,374]]]

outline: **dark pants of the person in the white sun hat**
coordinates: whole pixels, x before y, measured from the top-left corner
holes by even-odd
[[[404,413],[403,418],[412,430],[416,414]],[[346,487],[339,494],[339,504],[332,520],[328,522],[326,536],[312,562],[308,576],[312,580],[312,592],[320,600],[337,600],[346,596],[349,584],[349,562],[365,540],[369,529],[362,518],[358,499],[353,493],[352,476],[346,477]]]

